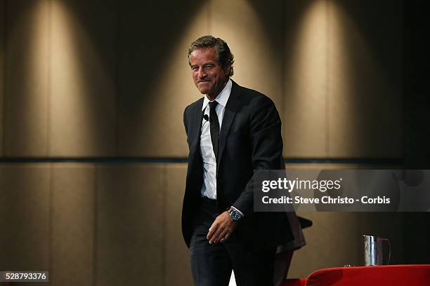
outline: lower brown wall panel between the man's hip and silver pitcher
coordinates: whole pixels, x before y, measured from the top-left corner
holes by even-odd
[[[363,242],[360,214],[341,212],[304,212],[313,226],[304,229],[306,246],[294,252],[289,278],[306,278],[321,268],[361,265]]]

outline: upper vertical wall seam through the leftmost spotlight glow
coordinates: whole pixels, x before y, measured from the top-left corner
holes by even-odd
[[[53,11],[53,2],[52,0],[48,0],[48,75],[46,79],[46,85],[48,88],[48,92],[46,93],[46,151],[45,154],[47,156],[51,156],[51,116],[52,116],[52,87],[51,87],[51,74],[52,74],[52,11]]]

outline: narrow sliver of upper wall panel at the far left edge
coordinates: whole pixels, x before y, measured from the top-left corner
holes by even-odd
[[[6,0],[0,1],[0,15],[5,15],[6,12]],[[6,46],[6,25],[5,21],[0,21],[0,156],[3,155],[3,121],[4,121],[4,60],[5,60],[5,46]]]

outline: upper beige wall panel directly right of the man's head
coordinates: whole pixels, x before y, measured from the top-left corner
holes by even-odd
[[[282,110],[282,1],[210,1],[209,32],[235,55],[233,80]]]

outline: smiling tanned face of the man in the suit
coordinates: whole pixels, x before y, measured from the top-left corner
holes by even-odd
[[[216,60],[214,48],[197,48],[190,54],[191,74],[194,84],[200,93],[208,95],[214,100],[228,81],[226,71],[230,67],[223,69]]]

